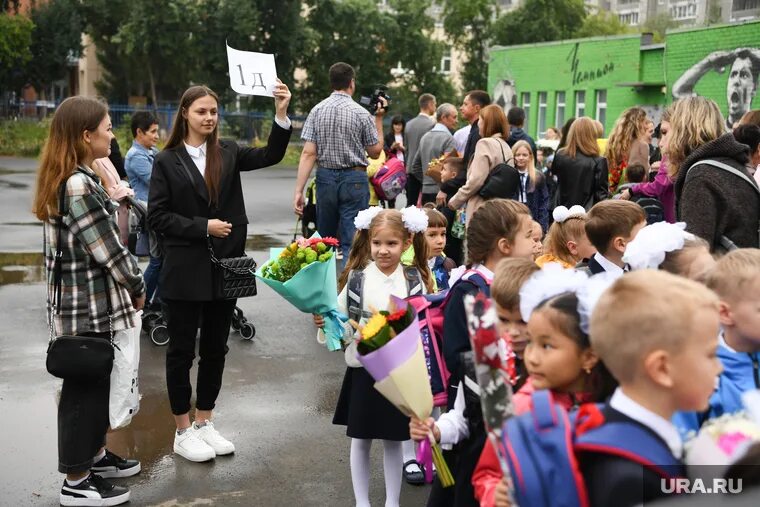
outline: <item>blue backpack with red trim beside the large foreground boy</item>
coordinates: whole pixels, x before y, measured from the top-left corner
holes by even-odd
[[[657,437],[641,426],[605,423],[600,406],[593,403],[568,414],[548,390],[533,393],[531,411],[509,419],[504,430],[502,455],[518,505],[587,507],[588,491],[577,457],[583,452],[620,456],[664,478],[683,471]]]

